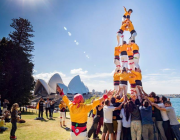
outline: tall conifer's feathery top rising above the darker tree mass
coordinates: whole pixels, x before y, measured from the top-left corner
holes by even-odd
[[[9,34],[9,37],[16,45],[23,48],[23,51],[26,52],[28,57],[31,57],[31,52],[34,50],[34,42],[30,38],[34,37],[31,34],[33,31],[33,26],[27,19],[19,18],[12,19],[12,24],[10,25],[15,29],[12,33]]]

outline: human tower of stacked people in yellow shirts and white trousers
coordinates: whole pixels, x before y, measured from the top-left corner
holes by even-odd
[[[142,75],[139,66],[139,46],[135,43],[137,32],[130,20],[133,10],[129,9],[127,11],[125,7],[124,10],[125,14],[122,17],[122,25],[117,32],[117,46],[114,50],[114,64],[116,65],[114,89],[120,92],[120,96],[123,96],[123,93],[127,95],[129,82],[131,85],[131,97],[140,99],[137,86],[142,86]],[[129,31],[131,34],[128,43],[124,41],[123,33],[125,31]],[[121,39],[122,44],[120,43]]]

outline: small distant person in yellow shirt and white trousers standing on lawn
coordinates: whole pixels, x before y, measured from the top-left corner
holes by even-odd
[[[66,104],[64,101],[61,101],[59,104],[59,109],[60,109],[60,126],[62,127],[62,121],[63,121],[63,126],[65,125],[65,110],[66,110]]]

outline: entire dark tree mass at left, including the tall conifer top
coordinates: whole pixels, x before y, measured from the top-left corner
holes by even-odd
[[[0,41],[0,94],[10,104],[25,105],[32,98],[34,88],[32,51],[34,42],[32,25],[27,19],[13,19],[10,25],[15,29],[10,39]]]

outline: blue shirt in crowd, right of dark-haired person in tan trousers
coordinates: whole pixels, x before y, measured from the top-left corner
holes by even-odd
[[[142,118],[142,125],[144,124],[153,124],[152,120],[152,106],[148,107],[139,107],[141,118]]]

